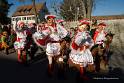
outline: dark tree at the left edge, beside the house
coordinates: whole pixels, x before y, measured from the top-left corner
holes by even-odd
[[[8,24],[9,18],[7,17],[9,8],[13,4],[9,4],[7,0],[0,0],[0,24]]]

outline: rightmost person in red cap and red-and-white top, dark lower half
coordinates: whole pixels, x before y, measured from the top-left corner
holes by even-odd
[[[94,40],[95,45],[92,47],[91,50],[92,50],[92,54],[93,54],[94,59],[95,59],[94,63],[95,63],[95,69],[97,72],[99,72],[101,69],[100,65],[102,63],[105,63],[105,60],[107,59],[107,55],[104,56],[105,50],[106,50],[105,42],[107,41],[107,39],[106,39],[107,32],[105,32],[105,30],[104,30],[105,27],[106,27],[105,23],[103,23],[103,22],[99,23],[98,28],[96,29],[95,34],[93,36],[93,40]],[[94,54],[95,48],[98,48],[97,54]]]

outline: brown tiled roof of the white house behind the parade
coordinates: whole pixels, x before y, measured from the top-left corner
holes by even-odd
[[[43,3],[36,4],[36,11],[37,13],[43,8]],[[33,5],[23,5],[19,6],[12,17],[15,16],[26,16],[26,15],[34,15],[34,8]]]

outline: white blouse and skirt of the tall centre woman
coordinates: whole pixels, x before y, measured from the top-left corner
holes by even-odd
[[[67,31],[63,26],[56,24],[56,27],[48,26],[50,30],[50,42],[47,44],[46,54],[49,56],[56,56],[60,54],[59,41],[66,37]]]

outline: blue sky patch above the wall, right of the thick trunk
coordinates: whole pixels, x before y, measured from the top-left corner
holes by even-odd
[[[92,15],[124,15],[124,0],[97,0]]]

